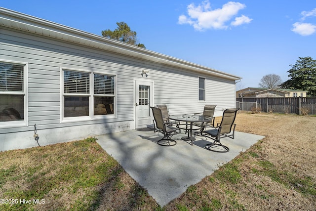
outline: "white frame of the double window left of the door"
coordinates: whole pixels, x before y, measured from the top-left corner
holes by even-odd
[[[91,121],[91,120],[102,120],[102,119],[114,119],[117,118],[117,74],[108,74],[104,72],[96,72],[96,71],[87,71],[87,70],[79,70],[73,68],[60,68],[60,118],[61,123],[69,123],[69,122],[82,122],[82,121]],[[74,71],[74,72],[82,72],[89,74],[89,94],[76,94],[76,93],[64,93],[64,71]],[[94,74],[98,75],[108,75],[114,76],[114,94],[110,95],[99,95],[94,94]],[[87,96],[89,97],[89,115],[83,117],[64,117],[64,96]],[[113,96],[114,97],[114,114],[107,115],[94,115],[94,96]]]

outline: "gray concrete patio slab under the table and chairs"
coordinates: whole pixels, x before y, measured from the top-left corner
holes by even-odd
[[[104,134],[96,138],[100,146],[116,159],[161,207],[179,197],[190,185],[198,183],[264,138],[261,135],[236,131],[235,139],[221,139],[230,151],[217,153],[204,148],[211,139],[197,136],[192,146],[181,139],[184,135],[174,135],[173,139],[177,144],[171,147],[158,145],[156,141],[162,134],[150,128]]]

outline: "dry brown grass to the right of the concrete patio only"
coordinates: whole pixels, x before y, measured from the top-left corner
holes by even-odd
[[[223,183],[216,171],[195,185],[196,191],[187,191],[168,204],[166,210],[181,205],[188,210],[316,210],[316,118],[241,113],[236,123],[238,131],[266,136],[230,162],[237,166],[241,179]],[[307,186],[300,184],[306,178],[312,194],[300,191]]]

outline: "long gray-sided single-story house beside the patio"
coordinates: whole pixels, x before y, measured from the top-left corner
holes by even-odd
[[[148,127],[156,104],[218,116],[236,106],[237,80],[0,7],[0,151]]]

